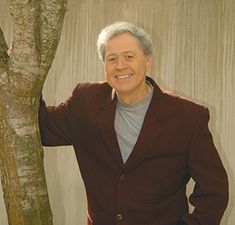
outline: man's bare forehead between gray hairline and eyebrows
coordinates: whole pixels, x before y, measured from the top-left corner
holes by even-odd
[[[106,54],[118,54],[121,52],[143,53],[139,40],[129,33],[122,33],[112,37],[105,44]]]

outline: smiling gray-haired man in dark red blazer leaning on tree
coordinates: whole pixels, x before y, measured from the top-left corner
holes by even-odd
[[[146,76],[153,47],[143,29],[114,23],[97,46],[107,82],[78,84],[64,104],[42,102],[39,113],[44,145],[74,146],[89,224],[218,225],[228,183],[208,109],[162,92]]]

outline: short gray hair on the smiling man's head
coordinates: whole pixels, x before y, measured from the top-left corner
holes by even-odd
[[[137,38],[145,55],[152,54],[153,43],[150,35],[142,28],[128,22],[115,22],[105,27],[99,33],[97,39],[97,51],[99,58],[104,61],[105,59],[105,44],[113,37],[123,33],[129,33]]]

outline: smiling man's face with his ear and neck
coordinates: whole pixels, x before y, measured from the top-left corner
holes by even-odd
[[[106,79],[121,98],[138,101],[145,96],[145,76],[151,65],[152,55],[145,55],[138,39],[129,33],[115,36],[105,45]]]

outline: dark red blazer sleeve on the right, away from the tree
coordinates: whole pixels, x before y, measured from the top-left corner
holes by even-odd
[[[195,209],[182,222],[219,225],[228,203],[228,179],[208,128],[208,109],[203,109],[200,118],[188,153],[189,173],[195,181],[189,201]]]

